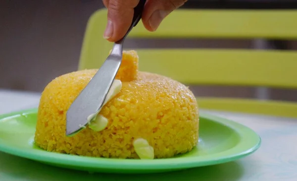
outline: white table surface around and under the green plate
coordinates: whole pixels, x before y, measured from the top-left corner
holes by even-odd
[[[39,98],[39,93],[0,90],[0,114],[36,108]],[[253,154],[230,163],[126,177],[130,181],[164,181],[170,175],[171,180],[182,181],[186,174],[197,175],[197,178],[192,177],[193,181],[297,181],[297,119],[203,111],[250,127],[261,137],[261,147]],[[0,181],[120,181],[121,177],[57,168],[0,152]]]

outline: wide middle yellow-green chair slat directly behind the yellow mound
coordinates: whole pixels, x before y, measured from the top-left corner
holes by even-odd
[[[140,70],[187,84],[297,88],[297,52],[139,49]]]

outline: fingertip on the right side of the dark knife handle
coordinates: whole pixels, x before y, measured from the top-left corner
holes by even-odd
[[[142,21],[148,31],[155,31],[162,20],[187,0],[148,0]]]

